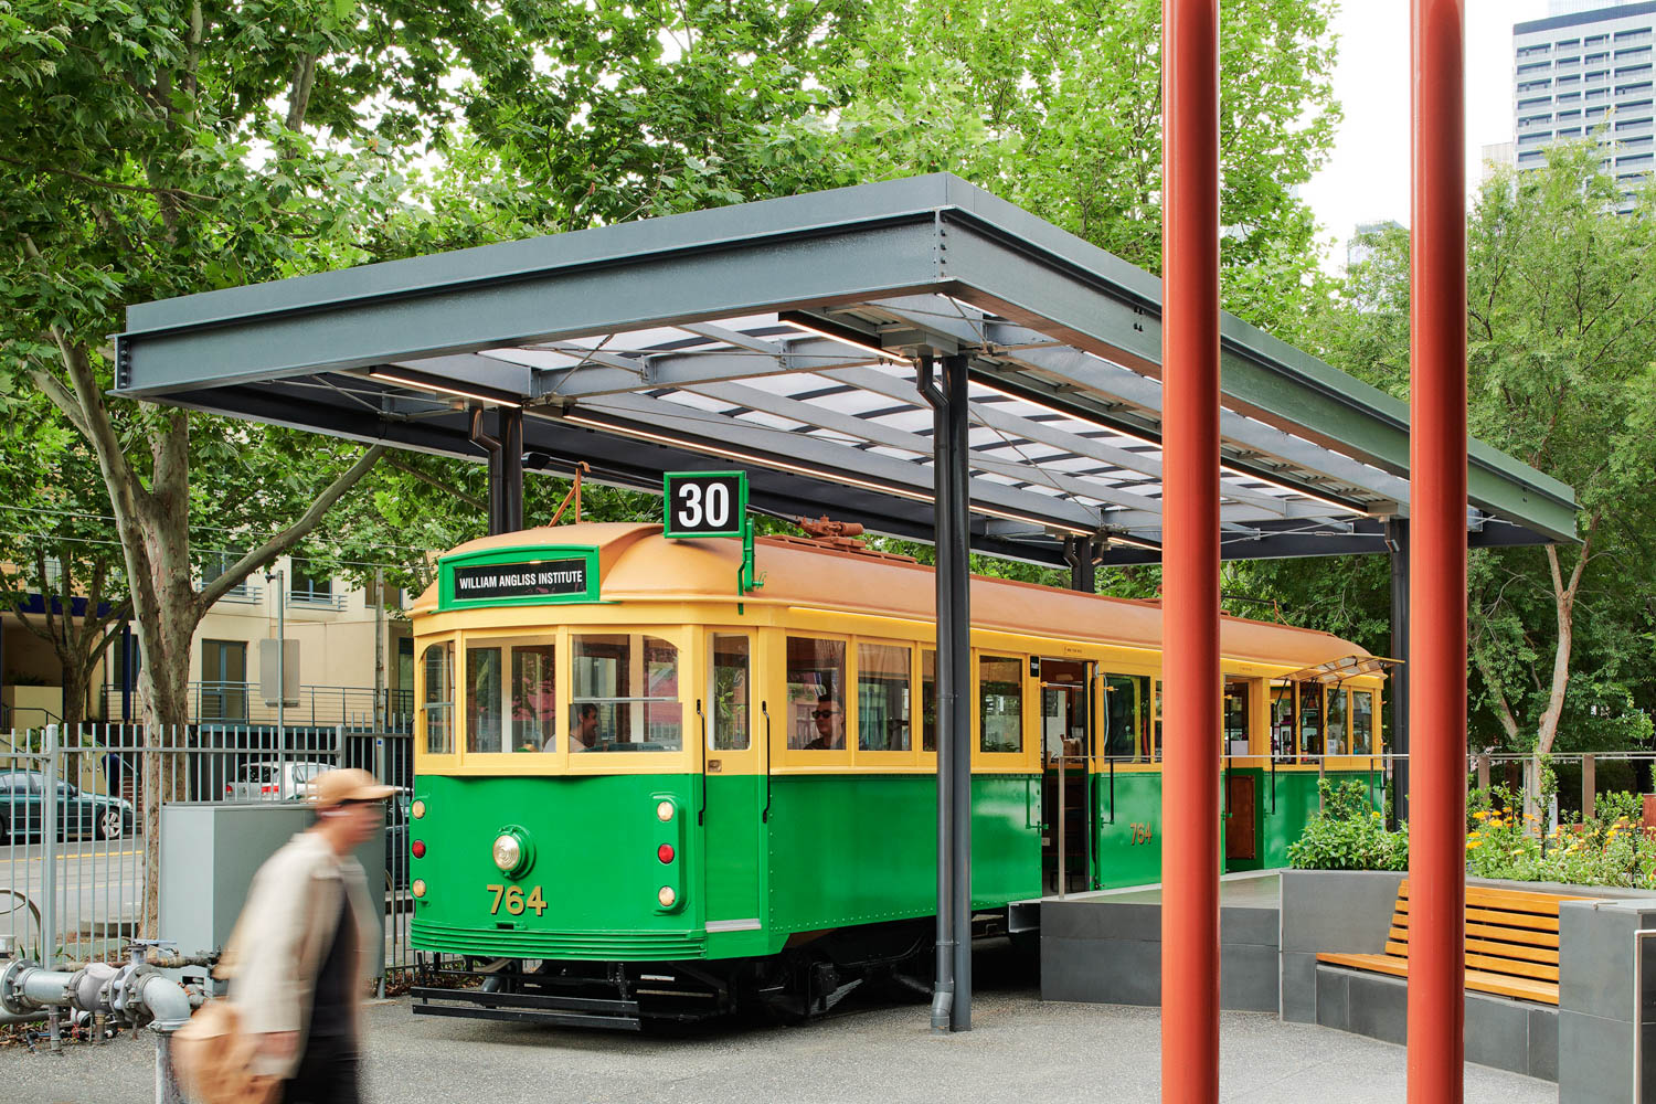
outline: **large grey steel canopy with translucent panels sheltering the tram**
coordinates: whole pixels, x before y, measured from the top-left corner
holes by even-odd
[[[116,394],[932,536],[921,349],[969,358],[972,543],[1159,558],[1161,281],[934,174],[437,253],[128,310]],[[1222,554],[1376,553],[1409,513],[1408,406],[1222,319]],[[1472,442],[1474,545],[1575,538],[1570,487]]]

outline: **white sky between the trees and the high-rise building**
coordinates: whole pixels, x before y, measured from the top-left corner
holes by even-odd
[[[1300,195],[1323,225],[1320,237],[1345,242],[1360,222],[1409,225],[1409,0],[1341,7],[1335,98],[1345,121],[1328,164]],[[1545,17],[1547,0],[1467,0],[1466,8],[1467,187],[1475,189],[1479,147],[1512,141],[1512,25]]]

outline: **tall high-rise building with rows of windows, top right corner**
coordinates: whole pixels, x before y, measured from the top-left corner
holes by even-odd
[[[1553,0],[1552,15],[1512,26],[1517,166],[1545,147],[1598,137],[1623,210],[1656,161],[1653,126],[1656,2]]]

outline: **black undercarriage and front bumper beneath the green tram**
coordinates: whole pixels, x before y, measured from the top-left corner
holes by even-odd
[[[1007,934],[1007,914],[979,914],[974,938]],[[899,920],[800,934],[763,958],[588,962],[464,958],[421,962],[427,985],[411,990],[414,1015],[467,1016],[568,1028],[639,1031],[768,1015],[802,1023],[831,1013],[851,993],[929,1000],[936,922]]]

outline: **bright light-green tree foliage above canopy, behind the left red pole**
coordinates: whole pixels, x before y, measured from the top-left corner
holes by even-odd
[[[1225,306],[1282,336],[1323,295],[1295,185],[1333,141],[1330,0],[1220,22]],[[856,179],[956,172],[1161,271],[1159,0],[874,0],[828,78]]]

